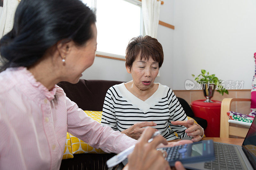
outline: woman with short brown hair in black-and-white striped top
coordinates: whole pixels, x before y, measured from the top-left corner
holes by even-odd
[[[146,126],[159,130],[168,141],[183,137],[202,139],[203,128],[193,119],[188,120],[172,89],[154,83],[163,61],[162,45],[155,38],[148,35],[132,38],[125,55],[132,81],[109,88],[101,124],[134,139],[140,137]]]

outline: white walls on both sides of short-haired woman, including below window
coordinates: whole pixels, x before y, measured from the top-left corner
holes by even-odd
[[[243,80],[250,89],[256,52],[256,1],[165,0],[158,41],[164,48],[164,63],[155,82],[184,90],[191,74],[201,69],[222,80]],[[117,40],[118,41],[118,40]],[[124,61],[95,57],[84,79],[130,81]],[[195,86],[196,88],[196,86]]]

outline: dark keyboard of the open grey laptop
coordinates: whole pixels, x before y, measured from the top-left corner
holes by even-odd
[[[204,163],[204,168],[214,170],[243,169],[233,145],[213,143],[215,160]],[[236,146],[235,146],[236,147]]]

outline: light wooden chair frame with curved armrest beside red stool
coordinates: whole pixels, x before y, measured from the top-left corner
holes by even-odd
[[[245,137],[249,128],[243,126],[231,126],[228,122],[227,112],[231,111],[230,106],[233,101],[251,101],[251,99],[225,98],[221,102],[220,111],[220,137],[229,137],[229,135]]]

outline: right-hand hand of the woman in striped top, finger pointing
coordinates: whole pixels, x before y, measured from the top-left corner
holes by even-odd
[[[185,126],[186,129],[185,132],[188,134],[188,136],[192,136],[194,139],[192,139],[193,142],[198,142],[202,139],[201,136],[204,135],[204,129],[197,123],[194,122],[194,119],[189,119],[187,121],[172,121],[173,125],[182,125]]]

